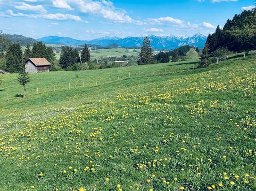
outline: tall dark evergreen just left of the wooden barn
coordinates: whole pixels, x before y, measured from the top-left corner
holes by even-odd
[[[9,73],[18,73],[23,68],[22,50],[18,43],[13,43],[8,46],[6,53],[5,69]]]

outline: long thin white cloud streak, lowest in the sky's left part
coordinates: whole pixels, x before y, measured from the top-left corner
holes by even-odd
[[[42,19],[48,19],[48,20],[57,20],[57,21],[66,21],[66,20],[73,20],[77,22],[82,22],[82,23],[88,23],[88,21],[83,21],[80,16],[76,15],[69,15],[69,14],[61,14],[61,13],[56,13],[56,14],[23,14],[23,13],[13,13],[12,10],[7,10],[6,13],[10,16],[22,16],[22,17],[28,17],[28,18],[42,18]]]

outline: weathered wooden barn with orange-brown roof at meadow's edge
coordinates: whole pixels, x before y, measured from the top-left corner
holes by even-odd
[[[25,61],[25,71],[28,73],[49,72],[51,63],[45,58],[30,58]]]

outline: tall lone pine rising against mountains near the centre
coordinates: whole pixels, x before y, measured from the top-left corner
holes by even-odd
[[[150,39],[148,37],[145,37],[140,49],[138,64],[143,65],[143,64],[152,64],[152,63],[154,63],[153,50],[151,48]]]

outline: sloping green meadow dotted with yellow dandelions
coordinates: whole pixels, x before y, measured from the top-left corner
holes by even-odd
[[[0,190],[255,191],[255,58],[197,61],[2,75]]]

